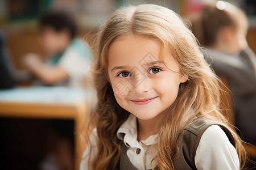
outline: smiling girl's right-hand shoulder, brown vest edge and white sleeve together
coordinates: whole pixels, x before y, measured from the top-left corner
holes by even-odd
[[[216,166],[214,162],[222,167],[239,169],[233,135],[218,122],[196,118],[184,129],[179,142],[174,162],[176,169],[208,169]],[[220,159],[225,159],[225,162]]]

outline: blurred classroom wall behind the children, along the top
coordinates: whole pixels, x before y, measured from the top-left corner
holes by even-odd
[[[71,11],[76,16],[79,26],[78,36],[82,37],[89,31],[95,33],[98,27],[108,19],[109,14],[121,5],[137,5],[142,3],[155,3],[171,8],[181,16],[200,11],[203,0],[1,0],[0,1],[0,25],[6,34],[7,48],[13,60],[15,69],[22,69],[20,58],[28,53],[35,52],[47,56],[40,48],[39,29],[37,19],[43,11],[49,8],[63,8]],[[256,12],[255,1],[234,0],[242,7],[249,18],[249,31],[247,41],[251,49],[256,52]]]

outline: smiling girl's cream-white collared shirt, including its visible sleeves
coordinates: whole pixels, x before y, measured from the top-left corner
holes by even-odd
[[[158,135],[151,135],[144,141],[137,141],[137,118],[130,114],[120,126],[117,137],[123,140],[127,148],[130,162],[138,169],[151,169],[151,160],[156,156]],[[97,154],[97,130],[90,136],[92,158]],[[92,169],[88,162],[89,147],[86,147],[80,169]],[[140,151],[138,151],[140,150]],[[155,167],[157,160],[152,162]],[[237,151],[229,142],[228,137],[218,125],[210,126],[203,133],[195,156],[196,168],[202,169],[240,169]],[[89,165],[89,168],[88,168]]]

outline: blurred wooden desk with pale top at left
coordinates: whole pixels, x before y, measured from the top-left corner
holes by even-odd
[[[75,122],[75,156],[81,147],[85,118],[85,92],[64,87],[30,87],[0,91],[0,116],[15,118],[72,119]],[[75,160],[75,169],[79,163]]]

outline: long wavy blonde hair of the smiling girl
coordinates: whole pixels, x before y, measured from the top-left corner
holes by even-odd
[[[180,73],[188,77],[188,81],[180,85],[177,99],[159,123],[156,156],[158,167],[174,169],[173,160],[179,134],[196,117],[205,117],[219,122],[231,131],[242,168],[246,160],[242,141],[221,114],[225,109],[220,100],[222,82],[205,62],[195,36],[179,15],[168,8],[146,4],[119,8],[94,37],[93,83],[98,103],[90,114],[88,126],[97,128],[99,142],[98,154],[92,160],[93,169],[115,169],[118,165],[122,141],[119,141],[116,134],[130,113],[118,105],[110,90],[108,49],[118,37],[131,34],[159,40],[163,50],[169,50],[176,59]],[[89,138],[87,139],[89,142]]]

